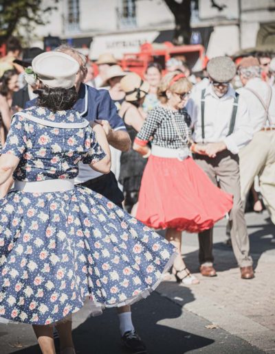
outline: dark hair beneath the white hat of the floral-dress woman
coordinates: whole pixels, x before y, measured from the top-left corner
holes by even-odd
[[[49,86],[42,85],[34,93],[39,95],[37,99],[38,106],[48,108],[53,112],[56,112],[56,110],[71,109],[78,99],[75,87],[50,88]]]

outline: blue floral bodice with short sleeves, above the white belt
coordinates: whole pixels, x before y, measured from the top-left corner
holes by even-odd
[[[23,113],[43,119],[45,123],[47,120],[51,123],[83,121],[74,110],[62,110],[54,114],[47,108],[34,106]],[[75,178],[80,161],[96,163],[105,156],[90,126],[78,130],[50,128],[34,123],[20,113],[12,119],[2,154],[13,154],[20,158],[14,179],[25,181]]]

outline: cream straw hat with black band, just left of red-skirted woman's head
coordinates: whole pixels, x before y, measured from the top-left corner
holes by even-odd
[[[125,100],[128,102],[137,101],[145,97],[149,92],[149,84],[140,78],[136,73],[129,73],[120,81],[122,91],[125,93]]]

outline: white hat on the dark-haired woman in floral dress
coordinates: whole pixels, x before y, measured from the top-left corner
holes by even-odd
[[[71,88],[75,84],[79,64],[67,54],[46,51],[32,60],[32,70],[43,84],[51,88]]]

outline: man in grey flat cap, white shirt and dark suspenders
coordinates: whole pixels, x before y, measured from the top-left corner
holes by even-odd
[[[230,235],[242,279],[252,279],[250,242],[241,202],[239,149],[252,139],[248,106],[234,91],[230,81],[236,74],[228,57],[208,62],[209,85],[191,98],[189,114],[194,133],[195,161],[221,189],[234,196],[230,211]],[[199,262],[203,276],[215,276],[212,255],[212,228],[199,233]]]

